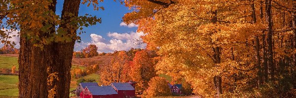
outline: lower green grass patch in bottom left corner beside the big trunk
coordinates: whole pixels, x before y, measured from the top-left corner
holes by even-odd
[[[10,98],[7,96],[18,96],[17,83],[17,75],[0,75],[0,98]]]

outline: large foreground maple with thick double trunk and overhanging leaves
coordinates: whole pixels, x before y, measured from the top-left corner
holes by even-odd
[[[69,98],[74,43],[80,40],[77,34],[83,32],[82,27],[101,22],[95,16],[78,16],[79,5],[92,4],[98,10],[98,2],[64,0],[59,16],[57,0],[0,1],[1,28],[20,29],[19,98]],[[9,33],[0,31],[2,43],[14,44],[7,40]]]

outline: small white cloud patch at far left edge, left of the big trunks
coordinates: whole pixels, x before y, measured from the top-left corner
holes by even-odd
[[[17,36],[19,33],[19,30],[11,30],[11,29],[1,29],[2,31],[5,31],[8,36],[11,36],[12,38],[8,39],[8,41],[14,42],[16,45],[15,48],[20,48],[20,37]],[[14,36],[15,35],[15,36]],[[0,43],[0,47],[3,47],[3,44]]]

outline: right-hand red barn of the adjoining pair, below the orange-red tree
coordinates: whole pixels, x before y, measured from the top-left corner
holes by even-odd
[[[135,88],[130,83],[111,83],[111,86],[117,91],[118,98],[135,98]]]

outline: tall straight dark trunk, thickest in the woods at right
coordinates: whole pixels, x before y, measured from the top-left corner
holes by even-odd
[[[267,28],[267,58],[268,58],[268,73],[271,80],[274,80],[274,64],[273,64],[273,50],[272,50],[272,22],[271,22],[271,0],[265,0],[266,2],[266,22]]]

